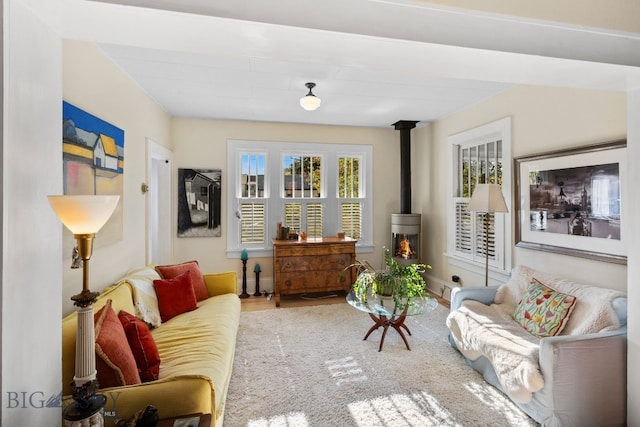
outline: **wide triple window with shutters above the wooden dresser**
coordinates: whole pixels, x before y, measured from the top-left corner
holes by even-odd
[[[230,140],[228,252],[271,255],[278,222],[307,238],[341,230],[372,248],[371,155],[365,145]]]

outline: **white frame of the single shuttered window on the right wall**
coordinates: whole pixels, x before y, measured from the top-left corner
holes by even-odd
[[[463,256],[456,252],[456,203],[464,201],[464,198],[458,197],[456,193],[459,188],[460,177],[460,156],[462,148],[468,148],[473,146],[480,146],[495,142],[497,140],[502,141],[502,194],[504,195],[505,202],[509,209],[509,212],[504,214],[493,215],[492,225],[494,226],[494,235],[496,241],[495,259],[489,259],[489,275],[492,279],[498,281],[506,281],[511,274],[511,262],[512,262],[512,224],[513,224],[513,208],[512,208],[512,163],[511,157],[511,117],[505,117],[497,121],[488,123],[483,126],[479,126],[458,134],[450,135],[447,138],[448,153],[449,153],[449,180],[447,189],[447,253],[446,256],[449,262],[455,266],[465,268],[467,270],[477,272],[478,274],[484,274],[485,271],[485,257],[482,250],[474,250],[478,248],[473,244],[472,254],[469,256]],[[484,217],[483,213],[475,213],[475,218],[472,217],[474,224],[478,223],[478,217],[480,220]],[[475,225],[472,230],[475,229]],[[484,229],[480,228],[476,230],[475,234],[472,234],[471,240],[476,241],[478,233],[484,233]],[[484,237],[483,239],[484,240]]]

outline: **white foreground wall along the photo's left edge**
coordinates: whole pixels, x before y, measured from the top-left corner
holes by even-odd
[[[2,418],[58,425],[44,403],[61,390],[62,225],[47,195],[62,188],[61,40],[5,0],[2,141]]]

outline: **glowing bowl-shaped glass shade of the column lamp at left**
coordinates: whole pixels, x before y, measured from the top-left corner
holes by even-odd
[[[73,234],[95,234],[107,222],[120,196],[48,196],[60,221]]]

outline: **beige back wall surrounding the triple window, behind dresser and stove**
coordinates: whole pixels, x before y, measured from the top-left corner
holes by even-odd
[[[222,236],[216,238],[175,238],[176,261],[197,259],[205,271],[235,270],[242,273],[239,259],[226,255],[227,212],[227,140],[277,142],[370,144],[373,146],[373,242],[376,250],[358,254],[378,265],[380,248],[391,240],[390,214],[400,209],[400,137],[389,129],[344,126],[311,126],[285,123],[261,123],[222,120],[174,119],[171,139],[175,143],[175,168],[213,168],[222,170]],[[177,175],[177,171],[175,173]],[[175,205],[175,203],[174,203]],[[275,224],[271,224],[275,227]],[[247,288],[254,288],[253,266],[262,269],[260,288],[273,289],[272,258],[250,259],[247,263]]]

